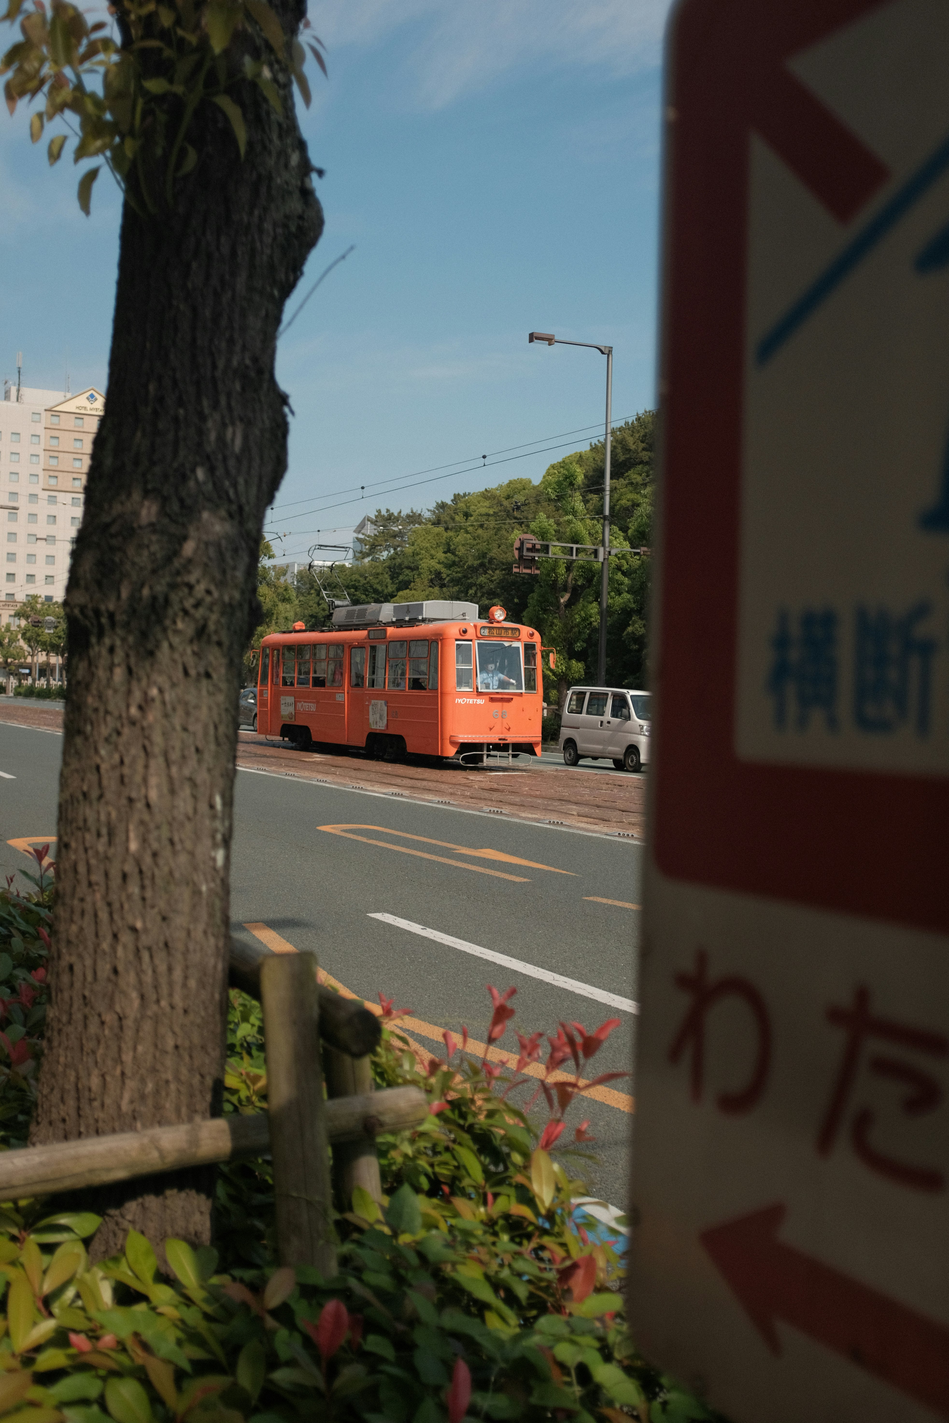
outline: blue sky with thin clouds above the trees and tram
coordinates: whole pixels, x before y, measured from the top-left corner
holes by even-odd
[[[615,416],[654,398],[663,0],[330,0],[310,18],[326,231],[287,314],[356,250],[279,347],[296,414],[269,522],[293,558],[380,502],[536,480],[595,438],[565,433],[602,421],[603,357],[531,329],[613,344]],[[0,111],[0,371],[23,349],[24,383],[57,388],[68,350],[73,390],[102,386],[118,196],[102,175],[84,218],[71,164],[50,171],[26,127]],[[386,492],[551,435],[565,448]]]

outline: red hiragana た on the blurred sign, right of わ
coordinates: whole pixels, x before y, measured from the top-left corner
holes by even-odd
[[[911,1047],[915,1052],[928,1053],[931,1057],[949,1056],[949,1039],[943,1033],[933,1033],[925,1027],[909,1027],[906,1023],[896,1023],[889,1017],[875,1017],[871,1013],[869,989],[862,985],[854,993],[852,1007],[828,1007],[827,1019],[835,1027],[847,1029],[847,1044],[837,1084],[817,1138],[820,1155],[829,1155],[834,1150],[857,1081],[864,1043],[868,1039]],[[933,1111],[942,1101],[939,1081],[903,1057],[878,1054],[869,1059],[868,1066],[878,1077],[889,1077],[906,1084],[909,1090],[903,1096],[901,1107],[908,1117],[919,1117],[926,1111]],[[899,1185],[908,1185],[916,1191],[945,1191],[946,1180],[942,1171],[931,1165],[911,1165],[906,1161],[898,1161],[875,1147],[869,1140],[875,1121],[876,1113],[866,1106],[858,1106],[851,1118],[851,1144],[861,1161],[871,1171],[876,1171],[878,1175],[885,1175]]]

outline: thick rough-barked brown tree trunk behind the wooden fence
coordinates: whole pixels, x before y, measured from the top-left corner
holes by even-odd
[[[300,4],[275,4],[287,33]],[[263,514],[286,468],[283,303],[323,213],[285,71],[243,83],[243,162],[203,102],[174,209],[122,212],[108,398],[65,598],[51,1010],[31,1143],[221,1113],[232,788]],[[97,1192],[135,1228],[211,1235],[213,1173]]]

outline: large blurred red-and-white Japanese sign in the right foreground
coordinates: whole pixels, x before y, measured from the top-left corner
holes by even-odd
[[[734,1423],[949,1419],[946,54],[669,34],[630,1318]]]

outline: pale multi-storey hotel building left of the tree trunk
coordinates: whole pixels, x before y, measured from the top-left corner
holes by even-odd
[[[63,396],[6,383],[0,401],[0,622],[38,593],[61,602],[83,521],[92,440],[105,411],[100,390]]]

